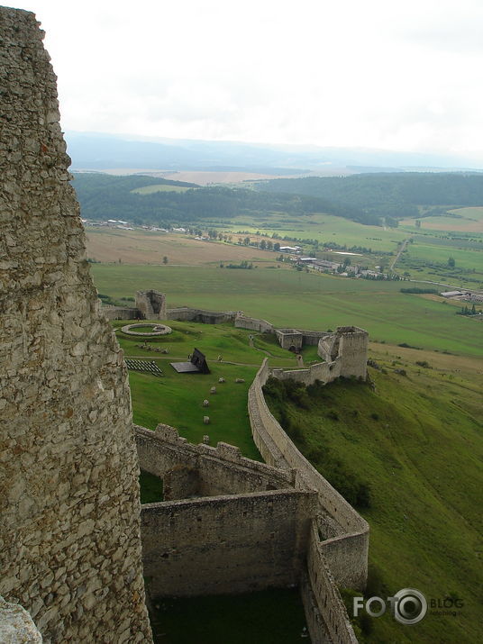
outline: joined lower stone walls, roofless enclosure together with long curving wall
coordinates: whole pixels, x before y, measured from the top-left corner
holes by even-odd
[[[150,596],[233,594],[298,585],[314,644],[357,640],[338,585],[363,588],[369,529],[298,452],[251,385],[253,438],[273,466],[225,443],[190,445],[178,431],[136,427],[142,469],[164,502],[142,506]],[[293,467],[291,467],[291,465]]]

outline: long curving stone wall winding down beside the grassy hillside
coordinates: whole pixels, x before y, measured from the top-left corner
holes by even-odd
[[[296,449],[269,411],[261,387],[269,377],[267,359],[249,391],[253,440],[267,463],[296,468],[296,486],[317,492],[318,521],[307,550],[307,576],[301,590],[311,638],[351,643],[355,639],[337,585],[363,589],[368,573],[369,526]]]

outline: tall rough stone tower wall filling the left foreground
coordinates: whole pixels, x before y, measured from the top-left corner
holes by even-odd
[[[0,594],[47,643],[150,642],[127,373],[41,38],[0,7]]]

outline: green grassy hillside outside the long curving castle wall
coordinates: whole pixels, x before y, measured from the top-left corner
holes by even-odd
[[[362,514],[371,530],[369,561],[381,577],[376,594],[415,587],[428,598],[457,594],[464,602],[460,617],[427,615],[413,627],[389,616],[371,620],[367,641],[477,642],[478,366],[469,369],[472,361],[458,358],[455,367],[451,357],[410,349],[396,348],[401,359],[377,350],[388,373],[370,369],[376,393],[345,382],[328,385],[310,411],[290,404],[302,428],[297,442],[308,454],[331,449],[343,467],[369,482],[372,502]],[[417,367],[415,358],[439,368]],[[396,375],[396,367],[406,368],[407,376]],[[331,409],[338,421],[327,417]]]

